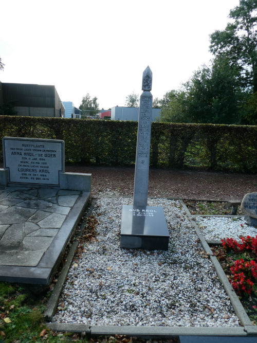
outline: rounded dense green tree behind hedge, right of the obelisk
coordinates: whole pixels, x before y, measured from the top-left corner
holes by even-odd
[[[161,120],[214,124],[240,123],[242,92],[238,70],[219,57],[195,71],[179,91],[164,96]]]

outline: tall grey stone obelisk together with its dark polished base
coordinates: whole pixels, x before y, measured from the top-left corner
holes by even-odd
[[[122,206],[120,246],[167,250],[169,230],[163,208],[148,206],[149,158],[152,124],[152,71],[143,72],[140,97],[133,205]]]

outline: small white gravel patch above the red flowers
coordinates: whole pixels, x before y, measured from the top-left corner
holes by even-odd
[[[220,218],[220,217],[199,217],[195,222],[207,240],[222,240],[224,238],[233,238],[241,242],[240,236],[255,237],[257,229],[248,226],[244,218]]]

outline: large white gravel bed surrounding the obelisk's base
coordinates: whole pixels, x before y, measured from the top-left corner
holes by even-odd
[[[238,327],[219,282],[178,201],[154,199],[170,231],[168,251],[120,248],[122,204],[102,197],[93,214],[97,241],[72,262],[54,322],[116,326]],[[63,308],[63,310],[60,310]]]

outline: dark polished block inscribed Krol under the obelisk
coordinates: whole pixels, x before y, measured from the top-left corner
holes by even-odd
[[[121,248],[168,250],[169,236],[162,207],[123,205]]]

